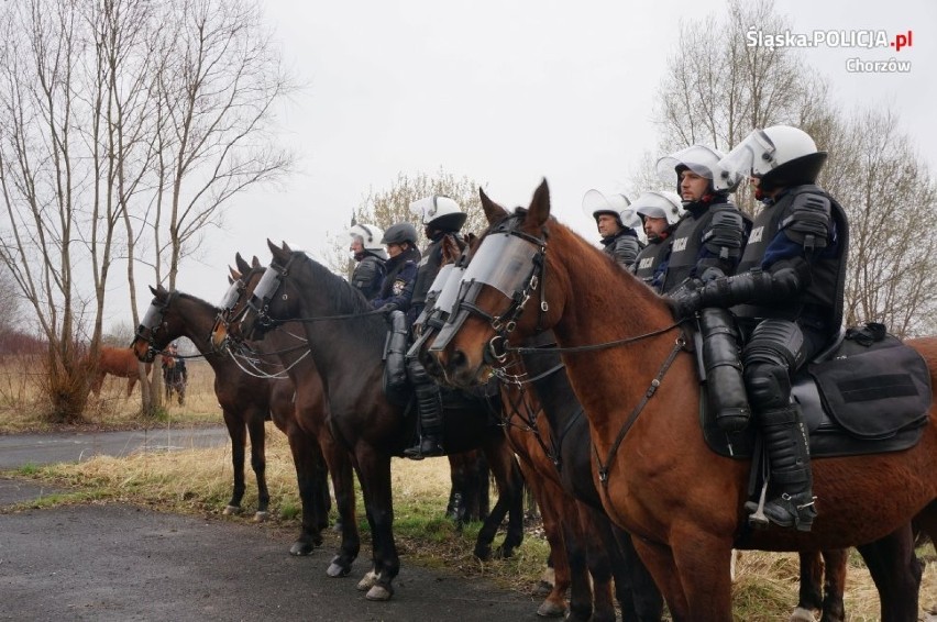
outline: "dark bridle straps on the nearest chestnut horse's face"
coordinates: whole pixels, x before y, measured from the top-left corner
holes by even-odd
[[[488,341],[488,345],[485,347],[485,363],[492,366],[495,366],[496,364],[503,365],[507,358],[506,344],[508,336],[517,327],[517,322],[520,319],[528,300],[530,300],[531,292],[534,290],[540,292],[540,306],[538,309],[537,327],[534,332],[542,332],[543,315],[550,310],[550,306],[547,302],[545,288],[541,287],[545,282],[543,277],[547,269],[547,240],[545,236],[534,237],[527,232],[520,231],[518,229],[518,224],[522,215],[523,213],[518,210],[518,213],[496,224],[488,232],[488,235],[506,234],[511,237],[517,237],[536,247],[530,260],[530,271],[527,274],[525,279],[520,281],[520,285],[512,293],[506,293],[508,297],[507,308],[497,314],[488,313],[487,311],[479,309],[475,304],[475,300],[478,298],[482,287],[486,284],[475,279],[464,281],[453,312],[450,315],[450,322],[442,327],[430,347],[430,351],[441,352],[444,349],[458,330],[465,323],[465,320],[467,320],[470,315],[478,315],[487,321],[492,330],[495,332],[495,335]],[[482,245],[484,245],[484,243],[485,238],[482,240]]]

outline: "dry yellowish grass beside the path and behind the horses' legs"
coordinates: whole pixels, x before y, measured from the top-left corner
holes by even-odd
[[[175,404],[166,409],[166,420],[161,426],[186,427],[218,424],[221,414],[212,389],[213,375],[203,362],[190,365],[189,395],[185,407]],[[0,368],[0,433],[43,430],[29,415],[27,403],[16,407],[18,399],[29,401],[32,389],[25,378],[16,380],[14,374]],[[96,427],[135,427],[152,425],[141,421],[139,395],[123,398],[123,380],[108,379],[101,399],[89,414],[89,425]],[[137,389],[139,390],[139,389]],[[93,400],[92,400],[93,401]],[[289,446],[286,437],[267,424],[267,482],[271,491],[271,520],[255,524],[255,529],[279,530],[284,555],[299,532],[300,502],[296,490]],[[41,480],[65,489],[64,492],[30,502],[29,507],[49,507],[67,503],[128,502],[164,512],[198,515],[213,521],[252,521],[256,507],[256,486],[247,474],[247,493],[243,502],[244,514],[224,517],[222,509],[231,493],[230,446],[213,449],[185,448],[173,452],[146,452],[125,458],[96,456],[79,464],[53,466],[26,465],[15,471],[24,478]],[[458,571],[466,577],[486,577],[506,589],[529,593],[537,585],[549,554],[539,529],[528,530],[522,546],[511,559],[482,563],[472,551],[479,524],[466,525],[458,532],[444,519],[449,496],[449,469],[444,459],[415,463],[395,459],[393,464],[395,503],[395,535],[403,556],[404,571],[408,564],[418,563]],[[357,500],[359,526],[364,545],[355,565],[355,573],[364,571],[368,557],[368,529],[360,489]],[[2,511],[16,511],[13,507]],[[334,511],[333,511],[334,513]],[[333,517],[334,518],[334,517]],[[495,542],[500,542],[503,534]],[[326,535],[326,551],[338,546],[338,536]],[[921,588],[922,612],[937,608],[937,555],[933,545],[918,551],[928,560]],[[785,620],[797,601],[797,557],[794,554],[746,552],[738,565],[734,587],[734,607],[737,620]],[[846,609],[852,622],[878,620],[878,593],[868,570],[858,555],[850,556],[847,577]],[[923,613],[922,613],[923,614]]]

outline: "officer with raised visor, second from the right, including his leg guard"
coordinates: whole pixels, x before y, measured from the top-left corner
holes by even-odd
[[[658,160],[663,180],[676,179],[685,213],[677,223],[666,259],[661,293],[688,279],[709,281],[734,274],[741,258],[749,219],[728,196],[740,176],[724,175],[723,154],[692,145]],[[709,406],[717,425],[737,432],[751,416],[742,379],[739,335],[728,310],[718,307],[699,312],[701,354]]]

